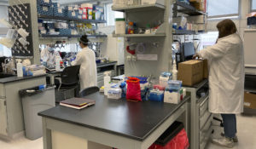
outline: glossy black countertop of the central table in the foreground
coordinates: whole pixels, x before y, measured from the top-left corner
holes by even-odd
[[[38,115],[113,135],[125,136],[133,140],[145,140],[173,112],[189,100],[187,96],[178,105],[154,101],[132,102],[125,99],[108,100],[101,93],[85,98],[96,100],[96,105],[83,110],[56,106],[39,112]]]

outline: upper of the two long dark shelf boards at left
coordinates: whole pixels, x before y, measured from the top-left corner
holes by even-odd
[[[107,23],[106,20],[84,20],[78,18],[64,17],[64,16],[50,16],[50,15],[38,15],[38,19],[41,20],[68,20],[80,23]]]

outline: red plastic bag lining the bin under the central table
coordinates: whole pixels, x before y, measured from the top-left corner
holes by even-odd
[[[185,129],[182,129],[166,146],[153,144],[148,149],[188,149],[189,139]]]

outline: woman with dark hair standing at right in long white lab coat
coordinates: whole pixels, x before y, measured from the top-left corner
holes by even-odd
[[[212,139],[218,146],[233,147],[236,136],[236,114],[243,112],[244,52],[241,37],[232,20],[218,23],[218,41],[202,49],[195,57],[208,60],[209,111],[219,113],[224,121],[224,136]]]

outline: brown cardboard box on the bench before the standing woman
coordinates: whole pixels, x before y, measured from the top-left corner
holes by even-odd
[[[203,80],[203,61],[189,60],[178,64],[177,79],[185,86],[193,86]]]

